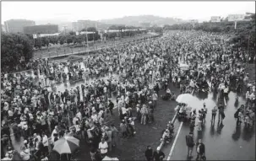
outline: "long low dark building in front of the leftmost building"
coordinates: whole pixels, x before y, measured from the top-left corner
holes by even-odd
[[[56,24],[34,25],[24,27],[25,34],[55,34],[58,32]]]

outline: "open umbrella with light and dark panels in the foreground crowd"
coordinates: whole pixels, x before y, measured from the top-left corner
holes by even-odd
[[[75,137],[62,137],[54,142],[53,150],[59,154],[74,153],[79,148],[79,139]]]

